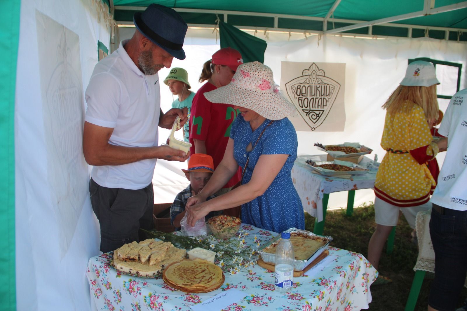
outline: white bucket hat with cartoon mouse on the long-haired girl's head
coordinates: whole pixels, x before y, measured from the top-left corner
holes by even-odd
[[[410,63],[405,72],[405,78],[400,83],[405,86],[432,86],[434,84],[439,84],[435,66],[425,61]]]

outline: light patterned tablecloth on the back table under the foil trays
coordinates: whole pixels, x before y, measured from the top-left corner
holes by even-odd
[[[302,200],[304,210],[311,216],[323,220],[323,194],[339,191],[371,189],[375,186],[377,165],[369,157],[364,156],[359,165],[368,168],[368,173],[354,175],[352,178],[323,176],[313,173],[306,160],[326,161],[327,155],[298,155],[292,168],[292,181],[298,196]]]

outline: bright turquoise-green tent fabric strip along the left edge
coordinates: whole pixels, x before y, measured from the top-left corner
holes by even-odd
[[[0,310],[16,310],[14,95],[20,8],[20,0],[0,1]]]

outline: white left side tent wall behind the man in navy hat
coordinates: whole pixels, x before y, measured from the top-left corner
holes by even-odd
[[[15,106],[17,310],[91,309],[85,273],[89,258],[99,254],[99,224],[87,192],[89,170],[81,147],[77,146],[84,123],[84,90],[98,62],[97,42],[110,48],[110,28],[100,5],[100,0],[21,1]],[[50,25],[59,27],[51,29]],[[65,42],[68,46],[63,41],[55,46],[42,42],[44,38],[39,34],[46,39],[60,38],[47,37],[60,27],[61,34],[70,39]],[[44,50],[53,53],[44,55]],[[49,68],[54,62],[55,67]],[[50,119],[57,112],[47,108],[57,103],[45,102],[44,92],[54,91],[54,87],[57,91],[57,83],[67,82],[71,70],[76,74],[71,93],[74,95],[59,102],[65,106],[61,112],[78,113],[64,119],[72,120],[74,127],[64,124],[62,130],[68,136],[62,138],[67,139],[54,146],[48,133],[50,124],[57,125],[57,120]],[[44,77],[44,72],[52,75]],[[70,86],[63,94],[70,95],[67,90]],[[71,132],[73,128],[78,130]],[[56,162],[51,161],[54,150],[63,147],[59,144],[66,147],[70,141],[74,142],[73,148],[65,151],[77,155],[76,159],[55,155]],[[64,177],[64,184],[57,184],[61,181],[57,179],[59,174]],[[64,197],[58,197],[56,189],[64,191]],[[69,198],[76,195],[78,200],[70,202]]]

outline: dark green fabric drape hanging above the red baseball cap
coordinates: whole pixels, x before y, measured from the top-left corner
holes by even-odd
[[[266,41],[249,35],[223,21],[219,22],[219,34],[220,47],[231,47],[238,50],[244,63],[254,61],[264,63],[264,51],[268,46]]]

